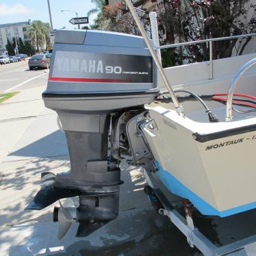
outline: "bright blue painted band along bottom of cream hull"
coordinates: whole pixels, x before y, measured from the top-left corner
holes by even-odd
[[[204,215],[216,215],[220,217],[227,217],[233,214],[238,214],[240,212],[246,212],[249,209],[256,208],[256,202],[248,203],[246,205],[241,205],[238,207],[234,207],[231,209],[226,209],[225,211],[219,212],[217,209],[209,205],[209,203],[205,202],[199,196],[196,196],[194,192],[185,187],[180,181],[175,179],[170,172],[167,172],[159,165],[156,161],[155,165],[159,169],[155,174],[159,178],[162,183],[172,192],[173,194],[177,194],[178,196],[183,197],[184,199],[188,199],[199,211]]]

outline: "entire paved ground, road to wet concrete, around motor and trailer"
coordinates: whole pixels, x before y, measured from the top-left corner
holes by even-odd
[[[48,73],[29,71],[27,61],[0,66],[0,93],[18,91],[0,104],[0,255],[201,255],[168,218],[154,212],[140,168],[123,167],[118,218],[86,238],[75,236],[74,223],[57,240],[53,205],[24,210],[40,189],[41,172],[70,168],[57,116],[41,99]],[[196,214],[196,225],[215,244],[227,244],[255,233],[255,211],[230,218]],[[256,255],[255,248],[247,249],[249,255]]]

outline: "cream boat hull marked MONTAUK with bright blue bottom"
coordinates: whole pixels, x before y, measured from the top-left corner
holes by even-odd
[[[155,128],[145,124],[142,131],[155,158],[155,175],[170,192],[205,215],[225,217],[256,207],[254,119],[242,127],[242,121],[230,123],[230,129],[228,123],[205,123],[203,129],[214,125],[220,131],[199,134],[196,122],[163,107],[150,110],[150,116]]]

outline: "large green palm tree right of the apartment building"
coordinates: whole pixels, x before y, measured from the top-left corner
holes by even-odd
[[[36,51],[39,52],[45,44],[45,34],[46,28],[42,21],[33,21],[31,23],[31,28],[28,31],[28,36],[32,44],[36,44]]]

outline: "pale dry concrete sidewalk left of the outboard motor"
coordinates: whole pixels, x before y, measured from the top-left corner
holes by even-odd
[[[40,172],[68,168],[66,142],[61,131],[47,149],[51,133],[57,133],[58,128],[54,121],[52,126],[47,126],[48,120],[51,122],[56,116],[45,109],[41,97],[43,90],[44,87],[23,90],[0,105],[1,227],[39,217],[45,219],[48,209],[43,212],[23,209],[38,190]],[[56,151],[55,146],[61,149]]]

